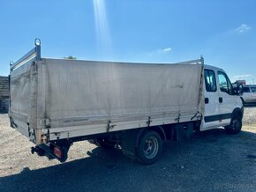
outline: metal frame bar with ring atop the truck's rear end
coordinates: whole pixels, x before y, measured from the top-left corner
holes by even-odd
[[[26,55],[23,55],[17,62],[10,63],[10,70],[16,70],[23,64],[27,63],[28,61],[35,60],[39,61],[41,60],[41,41],[39,39],[34,40],[35,47],[32,48],[29,52],[26,53]]]

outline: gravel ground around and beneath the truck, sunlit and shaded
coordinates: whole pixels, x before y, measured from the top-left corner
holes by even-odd
[[[245,107],[240,134],[215,129],[165,144],[152,166],[87,142],[73,144],[63,164],[32,155],[7,114],[0,133],[0,191],[256,191],[256,107]]]

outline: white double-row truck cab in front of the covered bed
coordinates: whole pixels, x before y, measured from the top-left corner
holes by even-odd
[[[242,128],[244,114],[240,92],[234,90],[226,72],[214,66],[205,65],[205,113],[200,130],[225,127],[231,134]]]

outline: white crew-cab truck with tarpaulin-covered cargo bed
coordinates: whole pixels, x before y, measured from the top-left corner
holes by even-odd
[[[224,127],[237,134],[243,104],[226,73],[204,64],[114,63],[49,59],[41,45],[10,73],[11,127],[32,152],[64,162],[74,142],[115,147],[142,164],[159,159],[165,141]]]

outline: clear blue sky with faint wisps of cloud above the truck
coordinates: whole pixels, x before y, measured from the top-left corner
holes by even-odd
[[[1,0],[0,76],[41,56],[177,63],[200,58],[256,84],[255,0]]]

